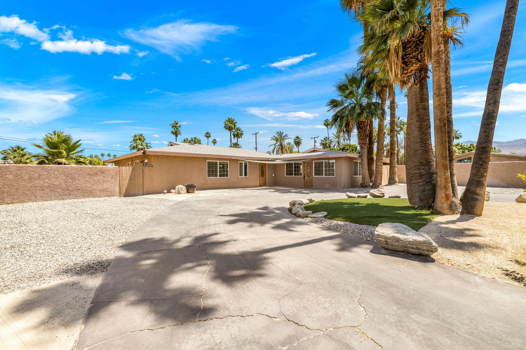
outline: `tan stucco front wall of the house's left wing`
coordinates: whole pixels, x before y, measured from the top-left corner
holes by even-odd
[[[144,194],[162,193],[177,185],[196,184],[197,190],[259,186],[258,163],[248,162],[248,177],[239,177],[239,160],[227,158],[187,157],[175,155],[138,155],[116,161],[117,166],[148,160],[144,172]],[[207,161],[229,162],[229,177],[207,177]],[[144,163],[139,163],[144,166]],[[268,172],[268,171],[267,171]]]

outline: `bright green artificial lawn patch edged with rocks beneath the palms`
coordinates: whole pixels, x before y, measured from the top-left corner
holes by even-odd
[[[305,205],[312,213],[327,211],[326,219],[378,226],[382,222],[399,222],[419,230],[440,215],[409,205],[407,198],[342,198],[317,200]]]

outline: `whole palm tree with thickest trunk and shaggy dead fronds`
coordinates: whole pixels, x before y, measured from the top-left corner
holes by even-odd
[[[360,47],[367,55],[364,61],[387,67],[391,81],[407,90],[407,192],[409,203],[423,209],[433,205],[436,181],[427,83],[431,59],[428,9],[427,1],[382,0],[368,3],[360,15],[370,25]],[[465,16],[458,8],[443,11],[444,22]],[[450,30],[448,39],[459,41],[453,32]]]

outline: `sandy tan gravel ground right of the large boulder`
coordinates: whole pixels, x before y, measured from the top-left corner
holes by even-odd
[[[489,201],[482,216],[443,215],[419,231],[438,262],[526,287],[526,204]]]

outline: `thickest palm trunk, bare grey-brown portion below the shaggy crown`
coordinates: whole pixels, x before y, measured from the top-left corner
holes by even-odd
[[[407,90],[407,197],[412,206],[430,210],[434,202],[435,165],[426,74]]]

